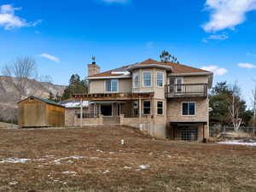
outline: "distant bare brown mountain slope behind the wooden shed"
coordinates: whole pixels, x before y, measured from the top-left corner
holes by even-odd
[[[19,102],[19,92],[16,90],[9,77],[0,76],[0,120],[9,121],[17,118],[17,102]],[[61,96],[66,86],[38,82],[29,79],[26,89],[26,96],[39,96],[47,98],[50,92],[53,96]],[[23,96],[24,98],[26,96]]]

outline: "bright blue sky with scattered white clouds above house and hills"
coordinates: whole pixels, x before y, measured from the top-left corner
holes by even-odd
[[[0,0],[0,67],[32,55],[38,73],[67,84],[85,77],[96,55],[102,71],[159,59],[236,80],[249,101],[256,79],[256,0]]]

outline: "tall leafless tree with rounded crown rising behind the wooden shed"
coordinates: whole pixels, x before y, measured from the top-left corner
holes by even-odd
[[[29,79],[37,74],[36,61],[30,57],[18,57],[9,65],[3,67],[2,73],[9,77],[9,83],[18,90],[19,99],[26,96],[26,86]]]

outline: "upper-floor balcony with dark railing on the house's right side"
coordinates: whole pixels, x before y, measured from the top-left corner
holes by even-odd
[[[207,84],[166,84],[166,97],[207,97]]]

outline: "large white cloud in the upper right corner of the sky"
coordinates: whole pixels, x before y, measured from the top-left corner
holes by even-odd
[[[203,25],[206,32],[234,29],[246,20],[246,13],[256,9],[256,0],[207,0],[210,21]]]

